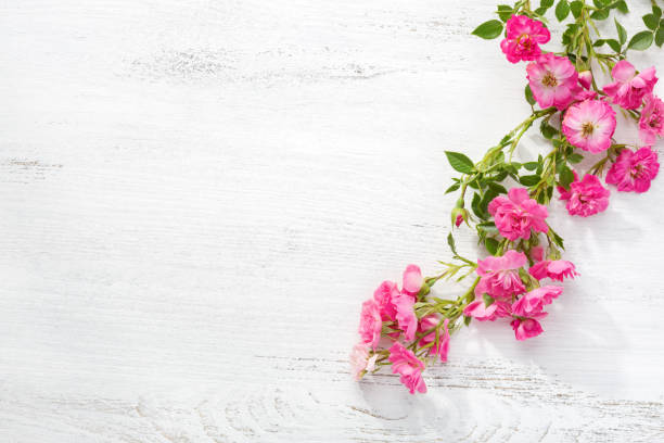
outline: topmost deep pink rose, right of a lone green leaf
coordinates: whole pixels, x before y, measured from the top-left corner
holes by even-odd
[[[500,49],[512,63],[537,60],[541,50],[539,45],[551,39],[551,33],[541,22],[525,15],[512,15],[506,23],[507,38],[500,42]]]

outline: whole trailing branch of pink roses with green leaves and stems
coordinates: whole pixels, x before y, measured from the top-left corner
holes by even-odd
[[[627,43],[626,30],[615,20],[618,39],[600,38],[592,21],[605,20],[623,2],[590,5],[579,0],[571,7],[558,1],[557,18],[562,22],[570,12],[574,18],[563,34],[562,52],[541,47],[551,39],[541,17],[554,1],[548,7],[542,2],[535,11],[524,0],[514,7],[501,4],[500,21],[486,22],[473,31],[491,39],[505,28],[500,49],[507,60],[527,62],[525,98],[532,110],[478,162],[446,152],[450,166],[461,173],[446,191],[459,191],[451,211],[452,229],[463,224],[463,229],[475,229],[488,254],[476,260],[462,256],[450,232],[452,258],[439,262],[440,273],[423,277],[420,267],[408,265],[400,288],[395,281],[383,281],[362,303],[359,342],[350,356],[357,380],[391,366],[411,394],[426,392],[425,367],[446,363],[450,336],[472,320],[509,322],[519,341],[541,334],[547,306],[563,292],[556,282],[579,275],[572,262],[562,260],[563,239],[548,223],[547,206],[554,192],[571,215],[588,217],[609,207],[611,191],[604,182],[618,192],[642,193],[656,177],[660,163],[654,145],[664,137],[664,101],[655,94],[656,72],[654,67],[638,71],[625,60],[628,49],[650,45],[642,40],[648,33],[638,33]],[[657,13],[661,16],[653,7],[653,14]],[[659,41],[651,34],[651,41]],[[598,52],[596,48],[605,42],[613,53]],[[611,77],[599,86],[600,76],[592,72],[598,65]],[[614,139],[618,114],[638,127],[638,144]],[[514,162],[516,145],[536,121],[550,151],[534,161]],[[598,156],[593,165],[582,172],[577,165],[593,155]],[[520,186],[506,188],[508,179]],[[456,299],[432,292],[438,281],[469,277],[472,283]]]

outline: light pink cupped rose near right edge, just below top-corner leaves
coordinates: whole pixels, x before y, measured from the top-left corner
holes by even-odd
[[[657,83],[654,66],[636,74],[634,65],[626,60],[621,60],[611,69],[611,76],[615,81],[604,86],[604,92],[613,103],[626,110],[636,110],[641,105],[643,97],[652,92]]]

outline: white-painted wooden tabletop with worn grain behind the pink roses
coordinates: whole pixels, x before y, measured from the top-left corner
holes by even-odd
[[[361,301],[448,255],[444,150],[527,115],[493,9],[1,2],[0,441],[664,441],[664,177],[553,205],[583,276],[540,338],[473,325],[426,395],[350,380]]]

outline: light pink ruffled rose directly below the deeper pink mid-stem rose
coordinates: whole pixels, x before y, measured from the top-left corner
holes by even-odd
[[[481,277],[475,287],[475,295],[484,293],[493,299],[509,299],[513,294],[525,292],[525,286],[519,277],[519,268],[523,267],[527,257],[523,252],[509,250],[500,257],[489,256],[477,261],[477,275]]]

